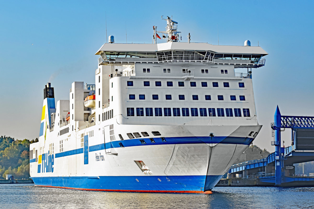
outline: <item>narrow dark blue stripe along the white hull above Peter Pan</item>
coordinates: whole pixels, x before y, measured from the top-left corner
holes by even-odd
[[[146,144],[142,144],[139,139],[143,139]],[[122,143],[124,147],[133,147],[133,146],[145,146],[145,145],[160,145],[160,144],[246,144],[249,145],[253,141],[253,138],[246,137],[165,137],[166,141],[161,141],[161,138],[154,138],[154,143],[150,141],[149,138],[136,138],[136,139],[127,139],[122,141],[112,141],[107,142],[106,147],[111,148],[120,148],[120,144]],[[105,144],[97,144],[93,146],[89,146],[89,152],[98,151],[105,149]],[[69,156],[73,154],[81,154],[84,153],[84,149],[73,149],[66,152],[61,152],[55,154],[55,158]]]

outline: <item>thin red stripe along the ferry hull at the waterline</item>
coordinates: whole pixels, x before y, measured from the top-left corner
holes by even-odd
[[[36,185],[44,186],[44,185]],[[84,189],[84,188],[72,188],[72,187],[63,187],[63,186],[44,186],[44,187],[53,187],[61,189],[76,189],[76,190],[89,190],[89,191],[119,191],[119,192],[167,192],[167,193],[203,193],[203,194],[213,194],[212,191],[171,191],[171,190],[114,190],[114,189]]]

